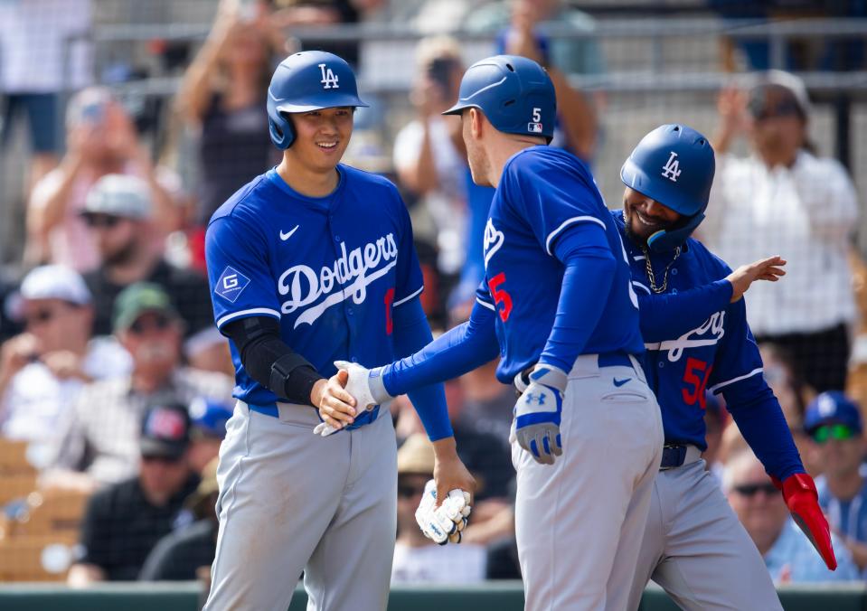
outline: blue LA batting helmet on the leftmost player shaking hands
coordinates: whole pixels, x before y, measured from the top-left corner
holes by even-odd
[[[271,142],[287,149],[295,140],[292,121],[284,113],[343,106],[367,106],[358,97],[355,74],[346,61],[324,51],[289,55],[274,71],[268,88]]]

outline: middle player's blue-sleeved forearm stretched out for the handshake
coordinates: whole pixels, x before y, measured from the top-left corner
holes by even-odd
[[[473,371],[500,353],[494,312],[476,304],[469,321],[459,324],[417,353],[382,368],[382,381],[391,396],[426,384],[452,380]]]

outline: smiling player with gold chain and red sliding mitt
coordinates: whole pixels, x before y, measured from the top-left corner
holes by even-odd
[[[736,272],[690,234],[704,218],[714,172],[707,139],[690,127],[647,134],[623,164],[627,247],[644,336],[645,371],[662,409],[665,447],[638,556],[629,609],[653,580],[684,609],[780,609],[756,546],[704,469],[705,391],[722,393],[743,437],[782,491],[830,569],[828,524],[777,398],[740,297],[775,280],[781,258]]]

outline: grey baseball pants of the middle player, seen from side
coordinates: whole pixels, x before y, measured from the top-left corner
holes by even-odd
[[[663,449],[659,406],[632,362],[598,367],[596,354],[578,358],[563,400],[563,455],[553,465],[512,444],[526,611],[626,608]]]

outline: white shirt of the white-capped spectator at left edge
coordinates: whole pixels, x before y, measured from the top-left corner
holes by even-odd
[[[127,375],[132,358],[111,337],[99,337],[88,345],[82,362],[84,372],[94,380]],[[3,397],[3,437],[46,444],[57,433],[61,414],[70,409],[84,382],[59,380],[42,362],[32,362],[18,371]]]

